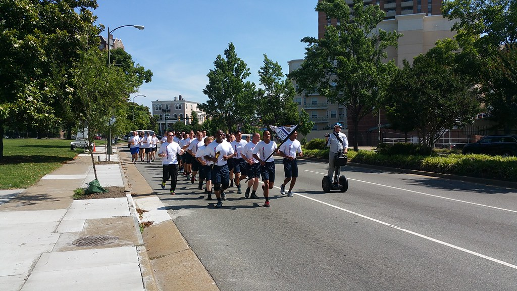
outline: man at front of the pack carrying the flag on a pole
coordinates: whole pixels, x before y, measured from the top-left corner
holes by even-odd
[[[271,133],[269,130],[264,130],[262,134],[263,141],[259,142],[253,149],[253,157],[260,162],[260,174],[264,185],[264,198],[266,202],[264,207],[269,207],[269,190],[273,188],[275,183],[275,159],[272,154],[278,152],[277,144],[271,140]]]

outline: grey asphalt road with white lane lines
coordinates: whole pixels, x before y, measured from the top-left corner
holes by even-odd
[[[158,159],[137,167],[221,290],[517,290],[514,189],[346,166],[348,191],[325,194],[326,164],[298,165],[293,198],[277,159],[270,208],[234,187],[221,209],[183,177],[161,190]]]

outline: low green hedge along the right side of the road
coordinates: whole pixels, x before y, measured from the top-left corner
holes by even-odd
[[[304,149],[303,155],[328,159],[328,149]],[[517,157],[479,154],[450,154],[444,156],[387,155],[368,150],[359,150],[358,152],[348,150],[348,161],[368,165],[517,182]]]

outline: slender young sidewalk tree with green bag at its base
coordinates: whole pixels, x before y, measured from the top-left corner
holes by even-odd
[[[97,180],[92,151],[95,134],[107,129],[112,115],[107,110],[124,106],[128,92],[134,91],[125,73],[117,67],[106,66],[102,54],[97,48],[84,52],[73,70],[74,91],[82,106],[82,110],[77,112],[77,118],[88,128],[87,146]]]

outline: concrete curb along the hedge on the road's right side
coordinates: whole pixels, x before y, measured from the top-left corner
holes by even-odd
[[[328,159],[322,159],[322,158],[305,157],[305,156],[296,157],[296,158],[307,159],[309,161],[328,163]],[[428,172],[428,171],[421,171],[421,170],[392,168],[392,167],[369,165],[369,164],[360,164],[360,163],[353,163],[353,162],[347,162],[346,165],[352,166],[352,167],[358,167],[358,168],[383,170],[383,171],[390,171],[390,172],[399,172],[399,173],[406,173],[406,174],[415,174],[415,175],[419,175],[419,176],[429,176],[429,177],[435,177],[435,178],[444,178],[444,179],[463,181],[463,182],[469,182],[469,183],[476,183],[476,184],[490,185],[490,186],[496,186],[496,187],[506,187],[506,188],[517,189],[517,183],[516,182],[503,181],[503,180],[493,180],[493,179],[485,179],[485,178],[458,176],[458,175],[455,175],[455,174],[444,174],[444,173]]]

